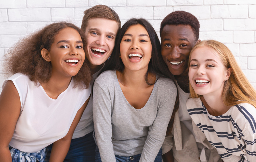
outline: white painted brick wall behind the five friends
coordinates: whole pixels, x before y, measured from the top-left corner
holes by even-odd
[[[114,9],[122,24],[132,17],[148,19],[158,35],[167,14],[191,12],[200,22],[199,38],[225,43],[256,88],[256,0],[0,0],[0,65],[20,38],[60,20],[80,27],[84,10],[96,4]],[[0,69],[0,87],[3,73]]]

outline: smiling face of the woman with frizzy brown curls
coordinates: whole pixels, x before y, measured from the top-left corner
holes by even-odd
[[[42,56],[51,62],[52,75],[75,76],[84,63],[85,53],[79,33],[67,27],[55,36],[49,51],[42,50]]]

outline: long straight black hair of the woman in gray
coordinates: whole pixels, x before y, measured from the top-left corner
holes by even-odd
[[[148,64],[148,71],[145,74],[146,83],[148,85],[154,84],[154,83],[150,84],[148,81],[148,74],[152,73],[152,74],[156,74],[158,76],[168,77],[176,85],[174,76],[169,71],[167,65],[164,63],[164,60],[162,58],[161,44],[160,44],[160,41],[156,34],[156,31],[154,30],[154,28],[150,25],[150,23],[146,19],[142,19],[142,18],[141,19],[136,19],[136,18],[129,19],[123,25],[123,27],[120,29],[120,31],[118,32],[118,34],[116,36],[115,47],[113,49],[113,52],[112,52],[111,56],[109,57],[109,59],[106,61],[106,66],[102,69],[101,73],[106,70],[118,70],[121,73],[124,71],[124,63],[122,62],[122,59],[119,57],[120,56],[120,43],[121,43],[121,40],[122,40],[126,30],[130,26],[137,25],[137,24],[140,24],[143,27],[145,27],[145,29],[148,32],[148,35],[149,35],[149,38],[151,41],[151,46],[152,46],[151,59]],[[157,79],[156,79],[156,81],[157,81]],[[177,85],[176,85],[176,87],[177,87]],[[172,117],[171,117],[171,120],[170,120],[170,123],[168,126],[167,133],[168,132],[170,133],[172,130],[174,115],[175,115],[176,111],[178,110],[178,108],[179,108],[179,96],[178,96],[178,90],[177,90],[176,102],[174,105],[174,109],[173,109]]]

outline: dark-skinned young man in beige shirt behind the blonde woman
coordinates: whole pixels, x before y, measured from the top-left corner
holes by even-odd
[[[186,108],[189,97],[188,57],[190,50],[200,42],[199,27],[196,17],[185,11],[172,12],[161,22],[161,53],[178,83],[180,100],[172,133],[166,135],[162,146],[164,162],[200,162],[203,148],[207,161],[222,161],[201,130],[193,125]]]

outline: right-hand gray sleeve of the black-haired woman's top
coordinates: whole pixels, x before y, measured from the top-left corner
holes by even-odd
[[[163,89],[166,89],[166,86],[169,85],[165,84]],[[166,129],[171,119],[177,94],[177,89],[173,82],[170,85],[169,89],[169,91],[163,90],[161,92],[157,92],[157,99],[166,96],[167,99],[164,100],[161,105],[159,105],[157,109],[156,119],[154,123],[149,126],[148,136],[141,153],[140,162],[154,161],[157,153],[159,152],[164,142]]]

